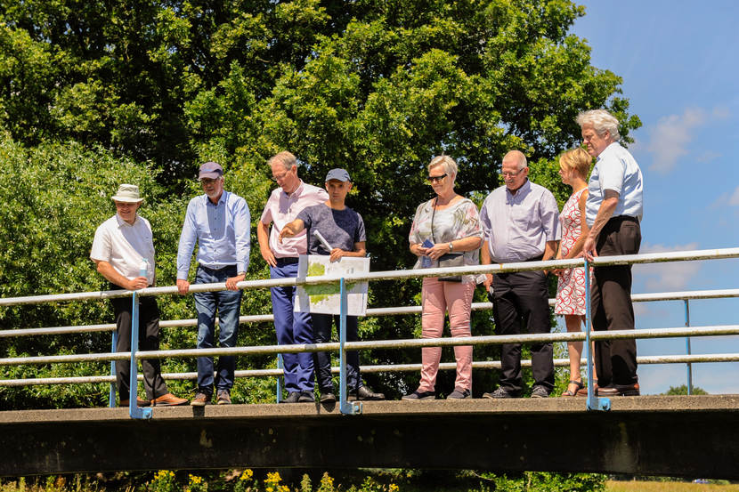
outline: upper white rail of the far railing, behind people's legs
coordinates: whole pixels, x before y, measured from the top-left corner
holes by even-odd
[[[679,291],[679,292],[658,292],[653,294],[631,294],[633,302],[654,302],[654,301],[685,301],[694,299],[725,299],[730,297],[739,297],[739,289],[719,289],[719,290],[696,290],[696,291]],[[550,306],[555,305],[555,299],[548,300]],[[492,302],[473,302],[472,311],[489,311],[492,309]],[[390,308],[369,308],[367,310],[367,318],[375,316],[396,316],[403,314],[420,314],[421,306],[399,306]],[[256,314],[248,316],[240,316],[239,323],[266,323],[272,322],[274,316],[272,314]],[[215,319],[218,323],[218,319]],[[198,325],[198,319],[169,319],[159,321],[159,327],[195,327]],[[45,328],[17,328],[0,330],[0,338],[16,337],[16,336],[39,336],[39,335],[68,335],[79,333],[95,333],[95,332],[111,332],[115,331],[115,323],[106,323],[101,325],[78,325],[74,327],[45,327]]]

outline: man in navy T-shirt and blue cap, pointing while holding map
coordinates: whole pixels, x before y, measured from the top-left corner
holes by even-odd
[[[329,199],[319,205],[308,206],[293,222],[285,224],[280,231],[282,238],[291,238],[302,230],[307,231],[308,254],[329,255],[331,262],[338,262],[344,256],[363,257],[367,254],[364,232],[364,222],[361,215],[345,206],[346,194],[352,190],[352,180],[345,169],[331,169],[326,174],[326,190]],[[331,246],[327,249],[313,231],[319,231],[321,236]],[[331,339],[331,321],[336,319],[337,329],[339,317],[331,314],[311,313],[313,320],[313,337],[315,343],[327,343]],[[356,316],[346,317],[346,340],[355,342],[358,336],[358,320]],[[359,370],[359,353],[347,352],[348,367],[346,383],[349,387],[349,396],[357,399],[385,399],[382,393],[376,393],[361,382]],[[331,404],[336,401],[334,384],[331,381],[331,356],[329,352],[315,354],[316,379],[321,391],[321,403]]]

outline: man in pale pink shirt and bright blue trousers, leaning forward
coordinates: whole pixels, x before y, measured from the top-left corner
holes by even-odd
[[[305,230],[292,238],[283,238],[280,231],[285,224],[293,222],[305,207],[321,204],[329,199],[326,190],[306,184],[297,177],[298,162],[294,155],[283,151],[272,157],[268,164],[272,169],[272,180],[280,188],[264,206],[264,212],[256,226],[256,238],[264,261],[270,265],[271,278],[297,277],[297,257],[307,254],[308,243]],[[272,224],[272,230],[270,230]],[[292,286],[272,287],[272,313],[277,343],[313,343],[313,326],[310,313],[293,312],[296,288]],[[283,353],[285,387],[288,398],[285,403],[311,402],[313,396],[313,354]]]

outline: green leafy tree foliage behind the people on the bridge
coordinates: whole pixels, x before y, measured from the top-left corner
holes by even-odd
[[[332,167],[347,168],[372,270],[412,264],[407,235],[431,195],[424,175],[434,155],[457,159],[457,190],[480,202],[499,185],[501,157],[522,149],[532,180],[564,202],[554,161],[579,144],[577,113],[612,110],[627,141],[640,125],[621,78],[591,66],[589,46],[570,34],[583,14],[569,0],[0,0],[2,149],[24,176],[3,183],[0,227],[12,245],[0,254],[2,294],[100,288],[89,244],[124,180],[147,190],[159,284],[173,282],[179,221],[203,160],[225,166],[227,188],[247,198],[254,222],[272,187],[265,161],[277,151],[296,154],[301,177],[314,184]],[[20,220],[21,205],[34,221]],[[249,271],[267,277],[256,247]],[[419,290],[415,280],[376,283],[370,302],[418,303]],[[267,293],[246,297],[244,312],[269,311]],[[108,308],[86,304],[6,310],[4,327],[110,319]],[[165,319],[192,317],[187,300],[161,305]],[[475,335],[491,325],[489,314],[475,313]],[[365,338],[419,330],[413,317],[361,324]],[[268,326],[244,332],[240,343],[273,343]],[[172,343],[194,345],[179,333]],[[496,354],[480,349],[475,359]],[[419,353],[362,358],[418,361]],[[397,396],[416,377],[370,383]],[[475,375],[475,385],[487,391],[494,377]],[[449,384],[442,375],[440,385]]]

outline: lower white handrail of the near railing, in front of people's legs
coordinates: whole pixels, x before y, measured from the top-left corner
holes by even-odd
[[[739,335],[739,325],[708,327],[647,328],[638,330],[614,330],[593,332],[591,340],[613,340],[627,338],[670,338],[690,336]],[[369,349],[402,349],[422,347],[449,347],[458,345],[500,345],[503,343],[556,343],[581,342],[584,332],[526,334],[526,335],[478,335],[446,338],[407,338],[401,340],[370,340],[346,342],[347,351]],[[178,349],[168,351],[137,351],[137,359],[214,357],[216,355],[264,355],[277,353],[338,351],[339,343],[303,343],[294,345],[261,345],[256,347],[228,347],[212,349]],[[68,354],[37,357],[16,357],[0,359],[0,366],[20,366],[24,364],[53,364],[102,360],[125,360],[131,352],[109,352],[93,354]]]

